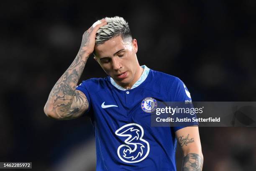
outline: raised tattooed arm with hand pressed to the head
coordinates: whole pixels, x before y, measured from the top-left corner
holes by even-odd
[[[81,91],[76,90],[76,87],[86,61],[94,50],[96,32],[106,24],[107,22],[102,19],[100,24],[90,27],[84,32],[76,58],[49,94],[44,106],[44,112],[47,116],[58,120],[69,120],[79,117],[88,109],[86,96]]]

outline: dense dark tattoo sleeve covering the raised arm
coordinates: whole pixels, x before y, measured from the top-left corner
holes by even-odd
[[[82,94],[76,92],[75,89],[88,59],[88,56],[82,56],[86,52],[91,31],[92,28],[84,33],[76,58],[50,92],[48,103],[52,106],[51,111],[60,119],[75,117],[82,107],[88,107],[87,99],[84,99]],[[75,103],[72,103],[73,101]]]

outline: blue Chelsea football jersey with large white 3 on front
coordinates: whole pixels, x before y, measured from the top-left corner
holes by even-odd
[[[176,171],[174,132],[183,127],[151,127],[142,101],[191,101],[177,77],[148,69],[131,89],[111,77],[83,81],[77,89],[89,102],[96,141],[96,171]]]

